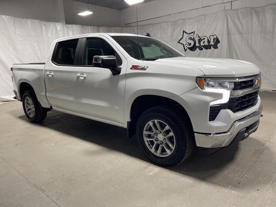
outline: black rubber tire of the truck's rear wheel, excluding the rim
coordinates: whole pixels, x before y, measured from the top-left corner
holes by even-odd
[[[34,106],[34,115],[31,117],[27,114],[26,106],[25,106],[25,99],[30,98],[33,101]],[[36,94],[34,91],[25,91],[23,98],[22,98],[23,110],[26,117],[29,119],[30,122],[37,123],[43,121],[47,116],[47,111],[43,109],[36,98]]]

